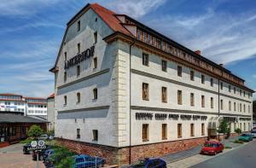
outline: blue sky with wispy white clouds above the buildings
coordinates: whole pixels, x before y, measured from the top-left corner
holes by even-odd
[[[256,90],[256,1],[3,0],[0,3],[0,92],[49,96],[67,21],[86,3],[128,14],[241,78]],[[256,96],[254,96],[256,98]]]

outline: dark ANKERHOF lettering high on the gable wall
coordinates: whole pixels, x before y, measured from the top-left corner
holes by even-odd
[[[69,67],[74,67],[78,65],[80,62],[92,57],[94,55],[95,46],[91,46],[90,49],[84,50],[84,52],[75,55],[69,61],[65,61],[64,69],[68,69]]]

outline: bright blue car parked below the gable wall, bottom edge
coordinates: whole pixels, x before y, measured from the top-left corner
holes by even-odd
[[[105,165],[105,159],[99,157],[90,157],[86,154],[74,155],[73,168],[89,168],[89,167],[100,167]]]

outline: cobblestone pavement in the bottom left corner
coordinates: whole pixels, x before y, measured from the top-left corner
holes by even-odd
[[[32,154],[23,154],[22,144],[0,148],[0,168],[34,168],[37,162],[32,160]],[[39,167],[44,168],[42,161]]]

